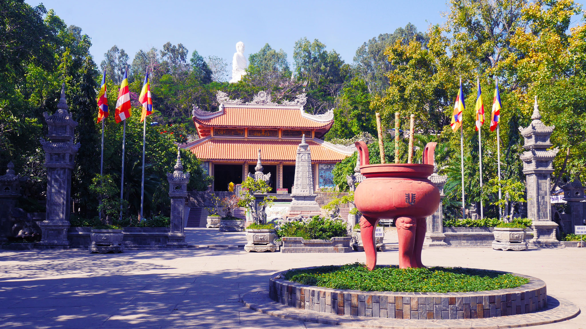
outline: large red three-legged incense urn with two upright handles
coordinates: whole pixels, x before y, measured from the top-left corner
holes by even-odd
[[[440,190],[427,179],[434,172],[437,143],[425,145],[423,165],[388,163],[370,165],[364,142],[355,143],[360,153],[360,173],[366,177],[356,187],[354,203],[362,213],[360,235],[366,253],[366,267],[376,266],[374,228],[381,218],[394,218],[399,240],[399,268],[423,268],[421,249],[430,216],[440,205]]]

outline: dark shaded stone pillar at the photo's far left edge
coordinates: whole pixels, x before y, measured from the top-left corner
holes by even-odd
[[[0,241],[8,241],[13,236],[13,223],[8,217],[21,196],[21,177],[15,174],[12,161],[6,167],[6,174],[0,176]]]

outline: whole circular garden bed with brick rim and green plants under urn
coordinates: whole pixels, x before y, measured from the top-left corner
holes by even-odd
[[[547,306],[546,284],[536,277],[465,268],[370,272],[358,263],[275,273],[269,296],[323,313],[421,320],[509,316]]]

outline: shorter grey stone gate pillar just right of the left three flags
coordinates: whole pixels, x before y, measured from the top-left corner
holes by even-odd
[[[169,197],[171,198],[171,225],[169,227],[168,246],[186,246],[185,233],[183,231],[183,217],[185,212],[185,200],[188,197],[187,183],[189,173],[183,173],[180,148],[177,148],[177,162],[174,172],[167,174],[169,181]]]

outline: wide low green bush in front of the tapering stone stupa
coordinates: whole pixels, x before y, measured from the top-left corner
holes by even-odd
[[[277,237],[299,237],[306,240],[346,237],[346,223],[315,216],[303,221],[288,221],[279,226]]]

